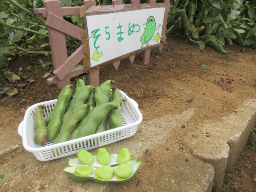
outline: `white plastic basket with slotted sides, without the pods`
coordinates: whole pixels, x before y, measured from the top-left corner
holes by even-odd
[[[50,161],[76,154],[82,148],[91,150],[133,136],[137,131],[138,125],[142,122],[142,114],[140,110],[138,110],[136,101],[129,98],[124,92],[120,91],[120,93],[123,98],[126,97],[127,99],[127,101],[122,102],[121,105],[120,116],[123,119],[122,127],[54,145],[52,145],[51,141],[47,140],[44,147],[34,142],[34,112],[38,105],[45,104],[47,106],[45,109],[45,117],[48,116],[57,100],[32,105],[25,112],[24,120],[18,127],[18,133],[22,136],[25,150],[32,152],[40,161]]]

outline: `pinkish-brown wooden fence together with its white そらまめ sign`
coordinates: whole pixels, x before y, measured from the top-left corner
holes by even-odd
[[[129,57],[133,63],[136,53],[144,52],[143,62],[149,63],[150,49],[158,46],[162,51],[165,28],[170,11],[170,1],[156,4],[122,5],[122,0],[112,0],[112,5],[96,6],[94,0],[84,0],[82,7],[61,7],[58,0],[45,0],[44,8],[35,9],[46,17],[53,58],[53,78],[48,83],[60,89],[70,83],[70,78],[88,73],[89,84],[99,86],[100,67],[113,63],[117,70],[120,60]],[[80,15],[85,18],[85,30],[65,21],[62,16]],[[82,41],[82,45],[67,57],[65,34]],[[84,59],[84,67],[72,70]]]

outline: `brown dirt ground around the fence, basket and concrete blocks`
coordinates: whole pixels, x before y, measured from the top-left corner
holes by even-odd
[[[198,129],[202,124],[220,121],[223,117],[236,112],[237,107],[246,99],[256,98],[256,51],[243,49],[236,44],[225,45],[225,50],[228,52],[226,55],[208,46],[200,50],[197,45],[186,43],[183,38],[168,37],[167,45],[164,45],[161,53],[156,48],[151,50],[150,63],[147,65],[143,64],[143,54],[140,53],[136,55],[133,64],[129,63],[128,58],[122,60],[117,71],[112,65],[100,69],[100,83],[107,79],[114,80],[114,87],[118,87],[138,103],[143,122],[167,114],[180,114],[184,110],[194,108],[192,119],[183,126],[183,129],[180,129],[147,162],[143,162],[151,163],[154,168],[143,164],[134,179],[122,185],[123,191],[132,190],[145,175],[153,175],[153,170],[158,169],[159,163],[168,155],[169,150],[182,147],[182,138],[187,132]],[[60,92],[56,85],[48,85],[46,78],[42,78],[45,69],[42,68],[39,59],[51,62],[47,56],[20,55],[13,58],[9,65],[10,71],[16,74],[19,68],[23,67],[23,71],[19,72],[18,83],[26,85],[18,88],[18,94],[15,96],[0,95],[2,150],[22,142],[17,128],[24,118],[26,107],[40,101],[56,99]],[[0,75],[3,73],[0,72]],[[31,77],[36,81],[27,82]],[[85,77],[88,83],[87,74],[81,77]],[[8,80],[2,77],[0,83],[5,85]],[[74,87],[75,83],[76,81],[72,81]],[[13,86],[15,85],[14,83]],[[5,172],[4,165],[9,162],[19,169],[23,178],[26,178],[29,172],[26,173],[22,165],[18,164],[19,156],[23,152],[25,151],[18,150],[0,159],[0,172]],[[34,158],[33,154],[29,155],[29,158]],[[233,174],[227,172],[222,190],[255,191],[255,159],[256,153],[245,148],[234,167]],[[34,175],[34,179],[38,178],[40,176]],[[28,185],[22,182],[17,182],[12,187],[6,185],[7,182],[6,178],[0,181],[0,190],[12,191],[15,186],[15,191],[30,191],[26,187]],[[37,190],[44,191],[44,187],[41,185]]]

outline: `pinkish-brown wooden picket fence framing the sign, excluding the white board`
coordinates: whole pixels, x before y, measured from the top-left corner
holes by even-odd
[[[139,49],[134,52],[134,55],[129,56],[129,60],[133,63],[136,53],[143,51],[143,62],[149,63],[150,50],[152,47],[158,46],[158,50],[161,52],[163,44],[165,43],[165,28],[167,23],[168,13],[170,12],[170,0],[164,0],[165,13],[162,26],[161,42],[157,45],[150,46],[150,48]],[[84,5],[96,6],[94,0],[84,0]],[[112,0],[112,5],[122,5],[122,0]],[[157,6],[156,0],[149,0],[147,6]],[[163,5],[163,4],[161,4]],[[124,5],[125,9],[143,7],[145,4],[139,4],[139,0],[131,0],[131,4]],[[70,78],[88,73],[88,80],[90,85],[99,86],[99,67],[82,67],[76,70],[72,70],[81,60],[84,59],[84,44],[80,45],[73,54],[67,56],[67,47],[65,35],[71,36],[76,40],[82,41],[83,29],[76,27],[75,25],[65,21],[63,16],[80,15],[80,7],[61,7],[60,1],[58,0],[45,0],[44,8],[34,9],[34,12],[38,16],[46,18],[45,25],[48,27],[49,41],[51,45],[51,53],[53,59],[53,66],[55,75],[52,78],[48,78],[49,84],[57,84],[60,89],[63,89],[65,85],[70,84]],[[117,70],[120,64],[120,60],[113,60],[113,66]]]

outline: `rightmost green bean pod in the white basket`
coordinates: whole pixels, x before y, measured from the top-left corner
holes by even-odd
[[[126,99],[123,99],[122,97],[116,98],[112,103],[116,103],[118,105],[117,110],[111,110],[109,112],[109,124],[112,127],[112,129],[117,128],[117,127],[122,127],[123,125],[123,120],[120,117],[120,110],[121,110],[121,102],[126,101]]]

